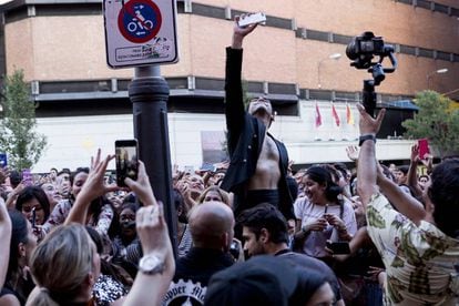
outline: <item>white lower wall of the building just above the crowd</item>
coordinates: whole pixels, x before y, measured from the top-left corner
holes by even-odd
[[[316,103],[302,101],[299,116],[277,116],[271,133],[285,142],[295,163],[347,161],[346,146],[357,144],[358,115],[351,106],[354,125],[346,122],[346,105],[335,104],[340,118],[336,126],[332,104],[318,102],[323,125],[315,128]],[[38,119],[38,131],[48,136],[48,147],[33,172],[48,172],[50,167],[89,166],[98,147],[102,153],[114,152],[114,141],[133,137],[132,115],[94,115]],[[171,161],[181,167],[202,164],[202,131],[224,131],[221,114],[170,113],[169,132]],[[330,139],[333,139],[330,141]],[[380,160],[409,159],[410,141],[380,140],[377,155]],[[109,167],[114,167],[112,163]]]

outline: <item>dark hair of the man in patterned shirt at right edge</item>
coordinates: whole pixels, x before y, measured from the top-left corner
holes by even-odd
[[[459,159],[442,162],[434,169],[428,194],[435,205],[434,220],[450,237],[459,237]]]

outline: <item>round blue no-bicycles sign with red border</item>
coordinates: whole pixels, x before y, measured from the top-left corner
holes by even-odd
[[[118,16],[121,34],[131,42],[143,43],[156,37],[161,29],[161,11],[150,0],[128,1]]]

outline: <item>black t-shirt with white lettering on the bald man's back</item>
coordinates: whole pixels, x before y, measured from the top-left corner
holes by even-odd
[[[203,305],[212,275],[233,265],[228,253],[213,248],[192,247],[175,263],[175,275],[163,305]]]

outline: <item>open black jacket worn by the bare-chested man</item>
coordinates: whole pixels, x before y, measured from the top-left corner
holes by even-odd
[[[226,48],[225,115],[227,147],[231,161],[225,178],[222,182],[222,188],[234,193],[234,210],[236,215],[244,208],[248,208],[244,207],[246,183],[255,173],[263,141],[266,135],[265,124],[248,114],[244,109],[241,81],[242,55],[242,50]],[[278,183],[278,208],[287,220],[294,220],[293,198],[286,181],[288,167],[287,149],[269,133],[267,135],[274,140],[279,152],[280,180]]]

